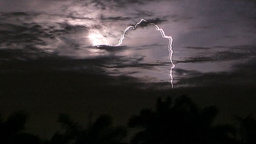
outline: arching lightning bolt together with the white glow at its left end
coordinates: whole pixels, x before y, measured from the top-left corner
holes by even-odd
[[[145,20],[144,18],[140,19],[139,22],[136,23],[135,26],[129,26],[127,27],[124,31],[123,31],[123,34],[121,35],[120,39],[119,39],[119,42],[118,44],[116,45],[112,45],[112,44],[108,44],[106,42],[106,39],[105,37],[103,37],[101,34],[90,34],[88,37],[92,40],[92,43],[94,46],[97,46],[97,47],[100,47],[102,45],[106,45],[106,46],[113,46],[113,47],[116,47],[116,46],[119,46],[123,43],[123,39],[124,39],[124,36],[126,34],[127,31],[129,31],[131,28],[133,30],[135,30],[137,28],[137,26],[140,25],[141,22],[148,22],[147,20]],[[175,67],[175,64],[173,62],[173,38],[172,36],[166,36],[165,35],[165,32],[163,29],[159,28],[155,23],[150,23],[150,25],[153,25],[157,31],[159,31],[162,35],[163,38],[166,38],[169,40],[169,43],[168,43],[168,51],[169,51],[169,62],[171,64],[171,67],[170,67],[170,72],[169,72],[169,77],[170,77],[170,84],[172,86],[172,88],[174,87],[174,84],[173,84],[173,68]],[[104,44],[103,44],[104,43]]]

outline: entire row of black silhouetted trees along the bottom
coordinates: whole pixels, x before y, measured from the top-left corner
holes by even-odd
[[[0,116],[0,143],[256,143],[256,120],[251,115],[238,117],[239,126],[232,126],[213,124],[217,114],[216,107],[200,109],[185,95],[174,102],[170,97],[166,100],[158,98],[154,109],[143,109],[138,115],[131,116],[127,127],[113,126],[109,115],[101,115],[82,127],[68,115],[60,114],[58,122],[63,131],[45,140],[24,132],[27,114],[19,111],[5,120]],[[132,138],[128,136],[129,128]]]

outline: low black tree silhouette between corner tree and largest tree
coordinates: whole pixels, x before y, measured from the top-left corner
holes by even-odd
[[[127,135],[125,127],[112,126],[109,115],[101,115],[86,128],[73,122],[66,114],[60,114],[58,122],[65,128],[64,133],[56,133],[48,143],[104,143],[122,144]]]

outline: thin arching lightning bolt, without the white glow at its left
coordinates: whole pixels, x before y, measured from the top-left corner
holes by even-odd
[[[125,30],[123,31],[123,33],[122,33],[122,35],[119,39],[118,44],[116,44],[116,45],[106,44],[106,45],[114,46],[114,47],[121,45],[123,43],[123,39],[124,39],[124,36],[127,33],[127,31],[129,31],[130,29],[135,30],[140,25],[140,23],[143,22],[143,21],[148,22],[147,20],[142,18],[142,19],[140,19],[139,22],[136,23],[135,26],[129,26],[129,27],[125,28]],[[172,38],[172,36],[166,36],[164,30],[161,29],[159,26],[157,26],[155,23],[151,22],[150,25],[153,25],[156,28],[156,30],[161,33],[163,38],[166,38],[166,39],[169,40],[169,43],[168,43],[169,56],[168,56],[168,58],[169,58],[169,62],[171,64],[170,71],[169,71],[169,77],[170,77],[170,84],[171,84],[172,88],[174,88],[173,68],[175,68],[175,64],[173,62],[173,53],[174,53],[173,52],[173,38]],[[99,47],[100,45],[95,45],[95,46]]]

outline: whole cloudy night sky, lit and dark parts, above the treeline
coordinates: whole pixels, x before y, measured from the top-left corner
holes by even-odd
[[[125,124],[159,96],[216,105],[218,121],[256,114],[256,3],[0,0],[0,112],[25,110],[50,136],[59,113],[79,122],[109,113]],[[172,36],[174,88],[168,40]]]

